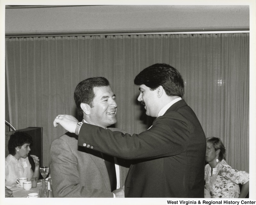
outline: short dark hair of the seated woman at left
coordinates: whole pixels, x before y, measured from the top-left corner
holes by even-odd
[[[12,154],[13,156],[16,154],[15,148],[17,146],[22,146],[24,144],[32,144],[32,137],[28,135],[25,132],[15,132],[10,136],[10,139],[8,141],[8,151],[9,154]]]

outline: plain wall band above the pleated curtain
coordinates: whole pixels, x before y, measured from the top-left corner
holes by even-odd
[[[249,30],[249,5],[7,7],[6,35]]]

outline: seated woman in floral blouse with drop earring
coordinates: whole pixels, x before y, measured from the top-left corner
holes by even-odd
[[[225,154],[220,138],[206,138],[205,189],[211,198],[245,198],[249,192],[249,173],[232,169]],[[241,193],[238,184],[243,185]]]

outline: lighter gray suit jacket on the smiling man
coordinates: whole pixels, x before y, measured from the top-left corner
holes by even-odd
[[[120,131],[116,128],[108,129]],[[101,153],[78,148],[77,138],[75,134],[67,132],[52,142],[51,177],[54,197],[114,197]],[[117,161],[120,187],[123,187],[129,164],[121,159]]]

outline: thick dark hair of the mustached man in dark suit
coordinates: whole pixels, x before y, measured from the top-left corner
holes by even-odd
[[[160,85],[168,96],[184,95],[184,83],[180,73],[172,66],[165,63],[156,63],[142,70],[134,79],[135,85],[146,85],[151,90],[156,90]]]

